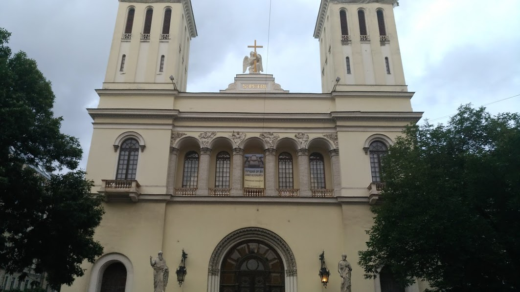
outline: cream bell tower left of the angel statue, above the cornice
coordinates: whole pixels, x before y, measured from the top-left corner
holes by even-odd
[[[197,36],[191,1],[119,2],[103,88],[171,89],[173,81],[186,91],[190,40]]]

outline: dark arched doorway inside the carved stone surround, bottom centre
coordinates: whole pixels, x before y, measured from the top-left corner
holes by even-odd
[[[284,284],[282,259],[265,242],[236,244],[220,267],[220,292],[282,292]]]

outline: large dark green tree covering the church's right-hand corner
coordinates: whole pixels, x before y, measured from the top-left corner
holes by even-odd
[[[404,134],[383,159],[365,277],[388,267],[435,291],[520,290],[520,116],[464,105]]]

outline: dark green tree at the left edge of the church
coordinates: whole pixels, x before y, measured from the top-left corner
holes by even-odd
[[[9,36],[0,29],[0,267],[23,273],[35,263],[58,288],[102,254],[93,235],[103,208],[83,171],[34,170],[75,170],[83,151],[60,133],[50,82],[24,52],[11,54]]]

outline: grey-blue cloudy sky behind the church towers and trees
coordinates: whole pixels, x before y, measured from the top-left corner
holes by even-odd
[[[217,92],[241,73],[254,39],[265,73],[291,92],[321,92],[319,0],[191,0],[199,36],[191,43],[188,91]],[[0,0],[10,47],[35,59],[53,82],[62,131],[85,157],[107,66],[117,0]],[[464,103],[519,112],[520,1],[400,0],[397,32],[413,109],[445,122]],[[499,101],[503,100],[503,101]],[[496,102],[499,101],[499,102]],[[491,104],[490,104],[491,103]],[[85,168],[86,158],[81,164]]]

